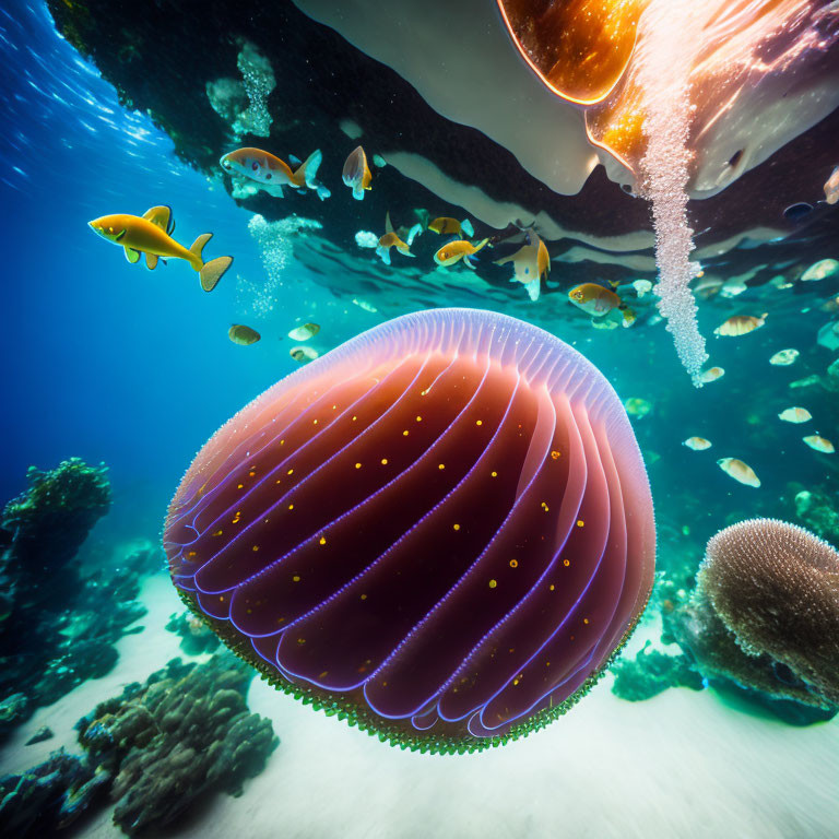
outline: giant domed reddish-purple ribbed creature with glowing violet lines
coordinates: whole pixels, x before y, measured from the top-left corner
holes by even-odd
[[[574,704],[652,583],[615,392],[528,323],[409,315],[275,385],[199,452],[165,547],[277,687],[403,747],[482,748]]]

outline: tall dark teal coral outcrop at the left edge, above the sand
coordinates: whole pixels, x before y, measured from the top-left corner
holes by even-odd
[[[49,472],[32,468],[27,478],[0,520],[0,734],[114,666],[114,642],[145,614],[139,579],[161,565],[149,543],[107,570],[76,562],[110,505],[104,466],[71,459]]]

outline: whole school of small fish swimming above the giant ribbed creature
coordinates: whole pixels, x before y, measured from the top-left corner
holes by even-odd
[[[378,155],[374,155],[373,159],[378,168],[386,165]],[[305,162],[300,162],[293,155],[288,155],[287,161],[286,163],[260,149],[243,147],[223,155],[220,165],[223,172],[238,179],[239,184],[253,185],[250,188],[251,193],[253,189],[262,189],[271,196],[282,198],[283,190],[291,189],[298,193],[314,191],[321,200],[330,197],[330,190],[317,179],[322,163],[322,154],[319,150],[312,152]],[[370,168],[362,145],[356,146],[347,155],[341,177],[343,184],[351,190],[353,199],[357,201],[364,200],[366,192],[373,189],[375,172]],[[825,197],[829,204],[839,201],[839,166],[834,169],[825,184]],[[386,213],[385,232],[380,236],[362,231],[356,235],[356,241],[359,247],[375,248],[378,258],[390,265],[391,252],[394,249],[403,257],[415,257],[411,250],[415,239],[426,232],[433,233],[446,237],[446,241],[434,253],[434,262],[438,267],[452,269],[462,263],[472,270],[475,269],[477,255],[498,241],[489,238],[475,239],[475,231],[469,218],[432,217],[425,210],[416,210],[414,214],[416,221],[413,224],[394,227],[390,213]],[[161,260],[164,262],[167,259],[184,260],[199,273],[201,287],[208,292],[215,288],[233,262],[233,257],[217,257],[204,261],[203,248],[212,234],[202,234],[189,248],[177,243],[172,236],[175,228],[172,210],[165,205],[153,206],[142,216],[106,215],[88,224],[102,238],[122,247],[126,259],[131,263],[138,262],[144,256],[147,268],[154,270]],[[540,299],[543,282],[548,279],[551,257],[547,247],[534,229],[523,229],[522,234],[524,241],[518,250],[508,251],[506,256],[493,262],[499,267],[510,265],[512,269],[510,282],[523,285],[530,300],[535,303]],[[521,238],[518,241],[521,241]],[[817,282],[837,273],[839,273],[839,261],[822,259],[804,270],[799,280]],[[723,282],[718,276],[706,276],[704,271],[699,270],[697,282],[694,284],[694,294],[705,299],[718,294],[724,298],[737,297],[748,289],[749,276],[749,274],[733,276]],[[610,285],[612,287],[594,282],[576,285],[568,292],[568,302],[589,316],[594,329],[613,330],[618,326],[633,326],[637,316],[626,300],[624,291],[628,288],[630,299],[640,300],[646,295],[654,293],[652,282],[638,279],[627,286],[618,287],[617,282]],[[783,291],[792,287],[793,283],[779,274],[773,277],[770,285],[778,291]],[[364,300],[353,298],[352,302],[367,311],[377,311],[375,306]],[[836,300],[829,299],[820,308],[830,315],[838,314],[839,297]],[[741,338],[764,327],[766,318],[766,312],[759,316],[734,315],[713,331],[718,336]],[[654,323],[655,319],[657,316],[653,316],[650,323]],[[836,323],[823,327],[817,336],[820,345],[830,350],[839,348],[839,330],[836,327]],[[288,331],[287,336],[296,344],[291,347],[288,354],[295,362],[305,364],[318,357],[318,351],[305,342],[317,335],[319,331],[320,327],[314,322],[302,323]],[[232,324],[227,334],[233,343],[243,346],[255,344],[261,339],[257,330],[244,323]],[[769,364],[776,367],[788,367],[797,361],[800,354],[800,351],[793,347],[782,348],[771,355]],[[699,381],[701,385],[709,385],[724,375],[725,370],[722,367],[708,367],[700,374]],[[652,403],[638,397],[627,399],[624,405],[627,413],[636,420],[647,416],[652,411]],[[803,424],[811,422],[813,416],[807,409],[795,405],[782,410],[778,413],[778,418],[784,423]],[[757,421],[757,417],[755,420]],[[811,449],[820,453],[831,454],[836,450],[830,440],[817,434],[803,437],[802,440]],[[709,439],[700,436],[688,437],[682,445],[692,451],[706,451],[712,447]],[[754,488],[760,486],[757,474],[743,460],[725,457],[717,460],[717,464],[726,475],[744,486]]]

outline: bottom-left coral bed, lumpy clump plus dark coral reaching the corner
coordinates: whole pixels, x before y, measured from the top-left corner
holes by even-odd
[[[279,743],[248,711],[251,677],[224,652],[201,665],[175,659],[128,685],[76,723],[84,755],[59,749],[0,778],[0,835],[54,836],[108,800],[126,834],[158,835],[202,797],[239,794]]]

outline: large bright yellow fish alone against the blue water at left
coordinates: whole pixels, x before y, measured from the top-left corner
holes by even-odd
[[[216,257],[204,262],[201,251],[212,238],[212,233],[202,233],[189,249],[172,238],[175,224],[168,206],[153,206],[142,217],[139,215],[103,215],[87,222],[91,229],[103,239],[119,245],[126,251],[126,259],[133,263],[145,253],[145,264],[150,270],[157,267],[158,259],[182,259],[198,271],[201,287],[212,292],[233,264],[233,257]]]

